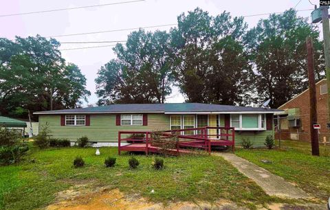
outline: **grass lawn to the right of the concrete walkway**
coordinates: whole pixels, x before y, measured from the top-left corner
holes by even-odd
[[[278,143],[276,143],[278,145]],[[330,145],[320,145],[321,156],[311,155],[311,145],[302,141],[281,141],[281,149],[236,150],[236,155],[296,183],[322,200],[330,195]],[[262,163],[267,159],[272,163]]]

